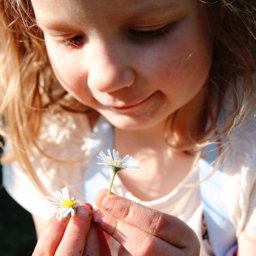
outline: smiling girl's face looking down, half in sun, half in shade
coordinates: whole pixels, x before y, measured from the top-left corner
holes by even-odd
[[[212,42],[197,0],[32,3],[60,83],[113,125],[145,129],[203,101]]]

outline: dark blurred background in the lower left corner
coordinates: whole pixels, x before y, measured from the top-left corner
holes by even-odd
[[[6,193],[2,184],[1,166],[0,171],[0,255],[31,256],[36,245],[33,219],[29,212]]]

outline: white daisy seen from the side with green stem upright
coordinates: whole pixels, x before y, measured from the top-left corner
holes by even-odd
[[[140,163],[137,159],[129,155],[126,155],[123,159],[119,158],[119,152],[115,149],[112,151],[113,154],[111,154],[110,149],[107,150],[107,153],[108,155],[105,155],[102,151],[100,151],[97,157],[102,161],[98,164],[108,165],[113,170],[113,177],[110,181],[110,186],[108,189],[108,195],[110,195],[116,173],[122,169],[134,170],[135,168],[139,168]]]

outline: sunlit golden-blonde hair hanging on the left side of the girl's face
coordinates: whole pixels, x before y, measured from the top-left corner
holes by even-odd
[[[35,25],[31,3],[0,1],[0,15],[1,133],[12,142],[12,151],[2,162],[17,159],[30,180],[42,188],[29,156],[35,156],[32,146],[38,148],[36,135],[43,112],[58,106],[71,111],[88,108],[66,100],[67,92],[58,85],[47,58],[43,33]]]

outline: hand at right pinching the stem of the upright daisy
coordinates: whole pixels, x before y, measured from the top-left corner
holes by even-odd
[[[199,255],[194,231],[183,221],[101,190],[92,221],[129,252],[118,255]],[[102,207],[101,207],[102,206]]]

